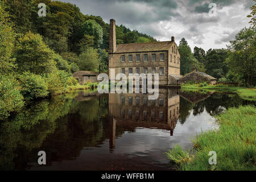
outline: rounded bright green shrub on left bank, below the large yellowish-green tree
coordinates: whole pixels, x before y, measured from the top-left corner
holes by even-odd
[[[19,79],[22,88],[20,93],[22,93],[25,98],[30,100],[48,96],[48,86],[42,76],[24,72]]]

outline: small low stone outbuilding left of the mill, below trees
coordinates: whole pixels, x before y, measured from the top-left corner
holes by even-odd
[[[80,85],[84,85],[85,82],[98,82],[98,72],[92,71],[77,71],[73,73],[73,77],[79,82]]]

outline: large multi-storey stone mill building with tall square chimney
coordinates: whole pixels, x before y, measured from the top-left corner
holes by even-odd
[[[168,85],[168,75],[180,75],[180,54],[174,37],[171,41],[154,43],[119,44],[115,42],[115,20],[110,20],[109,73],[115,76],[144,73],[159,73],[159,85]],[[139,57],[139,61],[138,61]],[[130,72],[129,72],[130,71]]]

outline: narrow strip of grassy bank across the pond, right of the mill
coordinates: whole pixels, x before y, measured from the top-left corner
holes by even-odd
[[[237,93],[241,98],[250,101],[256,101],[256,89],[242,88],[228,85],[207,85],[207,84],[183,84],[181,90],[184,91],[217,91]]]

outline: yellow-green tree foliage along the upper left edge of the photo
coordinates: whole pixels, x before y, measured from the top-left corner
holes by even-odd
[[[15,59],[11,59],[15,39],[12,27],[3,2],[0,2],[0,75],[10,73],[15,66]]]

